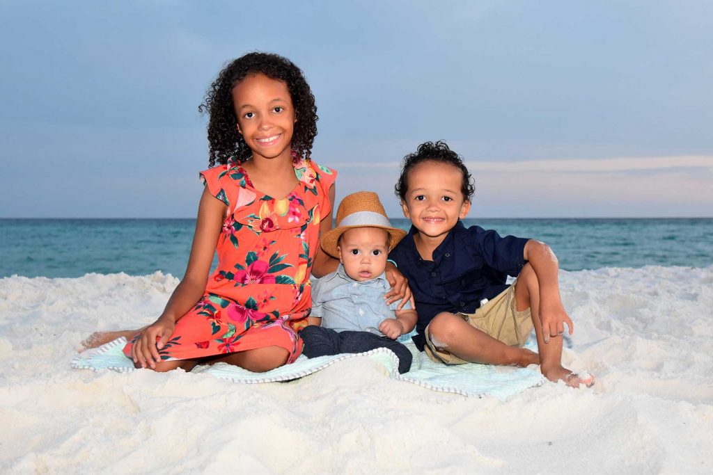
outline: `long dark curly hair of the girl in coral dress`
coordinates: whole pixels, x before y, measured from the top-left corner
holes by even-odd
[[[242,135],[237,132],[237,116],[232,104],[232,88],[245,76],[262,73],[268,78],[287,83],[289,95],[297,122],[292,135],[292,150],[297,153],[295,160],[312,155],[312,142],[317,135],[317,106],[314,95],[304,78],[302,70],[292,61],[274,53],[247,53],[229,63],[218,73],[215,81],[205,93],[205,101],[198,106],[200,113],[208,113],[208,166],[215,163],[225,165],[234,158],[245,162],[252,157]]]

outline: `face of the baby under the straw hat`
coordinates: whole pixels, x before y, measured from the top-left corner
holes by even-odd
[[[347,276],[368,281],[384,272],[389,256],[389,233],[381,228],[352,228],[339,238],[339,262]]]

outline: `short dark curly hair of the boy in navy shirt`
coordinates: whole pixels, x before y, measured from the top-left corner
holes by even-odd
[[[421,162],[439,162],[453,165],[461,170],[463,174],[463,183],[461,184],[461,192],[463,199],[471,200],[473,193],[476,192],[476,185],[473,184],[473,177],[468,172],[468,168],[463,164],[463,159],[456,152],[453,152],[446,142],[438,140],[438,142],[424,142],[419,145],[415,153],[409,153],[404,157],[404,162],[401,164],[401,176],[396,182],[394,192],[401,199],[401,202],[406,202],[406,192],[409,191],[409,172]]]

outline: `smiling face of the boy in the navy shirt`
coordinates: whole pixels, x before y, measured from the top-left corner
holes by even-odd
[[[406,200],[401,203],[404,216],[411,219],[419,233],[431,239],[446,239],[471,209],[471,202],[463,197],[463,174],[453,165],[440,162],[421,162],[408,177]]]

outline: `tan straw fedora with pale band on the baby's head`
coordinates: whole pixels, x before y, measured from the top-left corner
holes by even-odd
[[[320,244],[324,252],[339,259],[337,243],[339,237],[351,228],[381,228],[389,232],[389,249],[406,236],[406,231],[391,226],[386,217],[386,211],[379,201],[379,195],[374,192],[356,192],[348,194],[337,209],[337,227],[327,231],[322,236]]]

